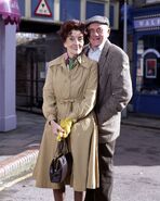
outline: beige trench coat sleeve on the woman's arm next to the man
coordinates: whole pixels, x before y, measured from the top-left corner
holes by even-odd
[[[92,62],[82,101],[69,114],[69,118],[77,122],[85,117],[94,108],[97,91],[97,64]]]

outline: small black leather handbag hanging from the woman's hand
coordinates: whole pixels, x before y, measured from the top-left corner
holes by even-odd
[[[72,167],[72,156],[68,151],[66,139],[57,143],[56,155],[50,165],[50,180],[51,183],[63,183],[71,174]]]

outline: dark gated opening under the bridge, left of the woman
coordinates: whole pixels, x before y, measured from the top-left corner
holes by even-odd
[[[46,66],[62,53],[59,42],[53,34],[19,34],[16,47],[17,110],[42,113]]]

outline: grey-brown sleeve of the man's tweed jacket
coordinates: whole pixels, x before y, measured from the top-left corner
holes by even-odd
[[[111,61],[110,65],[114,66],[112,73],[110,73],[110,96],[103,101],[97,112],[99,123],[104,123],[112,117],[118,112],[121,112],[132,97],[132,81],[130,75],[130,64],[128,55],[122,52],[118,56],[119,62]],[[118,61],[117,59],[117,61]],[[107,90],[106,87],[106,90]]]

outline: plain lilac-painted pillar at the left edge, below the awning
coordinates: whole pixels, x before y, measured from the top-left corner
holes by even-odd
[[[15,49],[16,25],[0,18],[0,131],[16,128]]]

